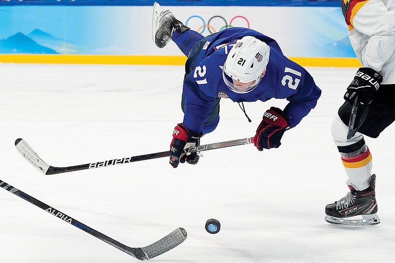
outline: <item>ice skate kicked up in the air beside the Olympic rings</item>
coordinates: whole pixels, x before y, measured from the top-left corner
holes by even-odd
[[[152,40],[159,48],[162,48],[170,42],[174,30],[181,34],[190,28],[178,21],[169,10],[163,10],[155,2],[152,14]]]

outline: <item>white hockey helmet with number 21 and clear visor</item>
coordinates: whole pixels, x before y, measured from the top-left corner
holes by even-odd
[[[270,47],[263,41],[246,36],[236,41],[226,58],[222,77],[226,85],[236,93],[247,93],[261,81],[261,75],[269,63]],[[234,80],[250,85],[235,85]]]

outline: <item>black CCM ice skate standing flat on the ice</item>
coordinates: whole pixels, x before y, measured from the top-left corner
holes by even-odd
[[[345,197],[325,207],[326,222],[338,225],[379,224],[375,185],[376,175],[372,175],[370,186],[365,190],[357,191],[349,185],[351,191]]]

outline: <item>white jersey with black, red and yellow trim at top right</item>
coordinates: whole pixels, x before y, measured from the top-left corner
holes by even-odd
[[[395,0],[341,0],[349,38],[363,67],[395,84]]]

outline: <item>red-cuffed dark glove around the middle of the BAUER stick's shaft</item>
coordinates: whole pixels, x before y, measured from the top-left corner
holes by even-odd
[[[173,140],[170,145],[170,164],[177,168],[178,164],[187,161],[190,164],[197,164],[199,155],[197,152],[185,153],[184,149],[199,145],[202,132],[190,132],[182,123],[179,123],[173,131]]]

